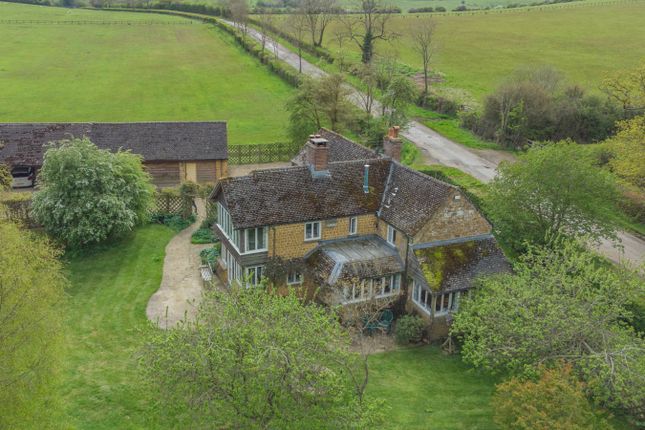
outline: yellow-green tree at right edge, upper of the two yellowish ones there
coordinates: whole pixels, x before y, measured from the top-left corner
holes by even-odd
[[[620,104],[625,118],[645,113],[645,62],[634,70],[606,77],[602,89]]]

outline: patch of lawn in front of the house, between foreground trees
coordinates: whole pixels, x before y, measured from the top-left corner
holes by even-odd
[[[375,354],[369,395],[390,406],[384,429],[492,429],[496,380],[429,346]]]

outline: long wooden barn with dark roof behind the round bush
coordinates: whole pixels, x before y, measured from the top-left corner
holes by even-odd
[[[226,122],[0,123],[0,163],[42,166],[50,142],[89,138],[110,151],[141,155],[158,187],[214,183],[227,175]]]

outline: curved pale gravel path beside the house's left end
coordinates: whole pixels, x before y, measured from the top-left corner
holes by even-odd
[[[179,321],[195,317],[202,297],[203,283],[199,252],[212,245],[193,245],[190,236],[205,217],[204,202],[196,199],[197,220],[178,233],[166,246],[161,285],[146,308],[146,316],[161,328],[172,328]]]

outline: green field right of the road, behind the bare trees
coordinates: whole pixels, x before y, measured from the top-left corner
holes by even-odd
[[[401,36],[378,42],[377,51],[395,52],[420,70],[409,31],[423,17],[394,17],[392,28]],[[445,85],[465,89],[476,99],[523,66],[551,65],[571,82],[597,89],[605,74],[634,68],[645,58],[644,17],[645,1],[433,15],[439,43],[433,63],[445,74]],[[326,46],[337,51],[334,30],[326,33]],[[345,43],[347,48],[358,53],[355,45]]]

